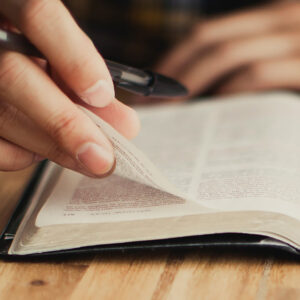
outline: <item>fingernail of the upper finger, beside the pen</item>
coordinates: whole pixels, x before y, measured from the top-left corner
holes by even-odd
[[[105,107],[115,98],[115,91],[105,80],[99,80],[79,97],[89,105]]]

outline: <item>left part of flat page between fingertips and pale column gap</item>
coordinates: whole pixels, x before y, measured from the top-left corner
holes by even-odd
[[[185,193],[191,194],[195,164],[215,122],[217,107],[213,105],[211,109],[211,105],[207,102],[138,109],[142,132],[134,143]]]

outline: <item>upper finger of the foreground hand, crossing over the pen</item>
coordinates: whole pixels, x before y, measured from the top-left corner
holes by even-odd
[[[61,1],[3,0],[0,11],[83,101],[104,107],[113,100],[114,87],[104,60]]]

